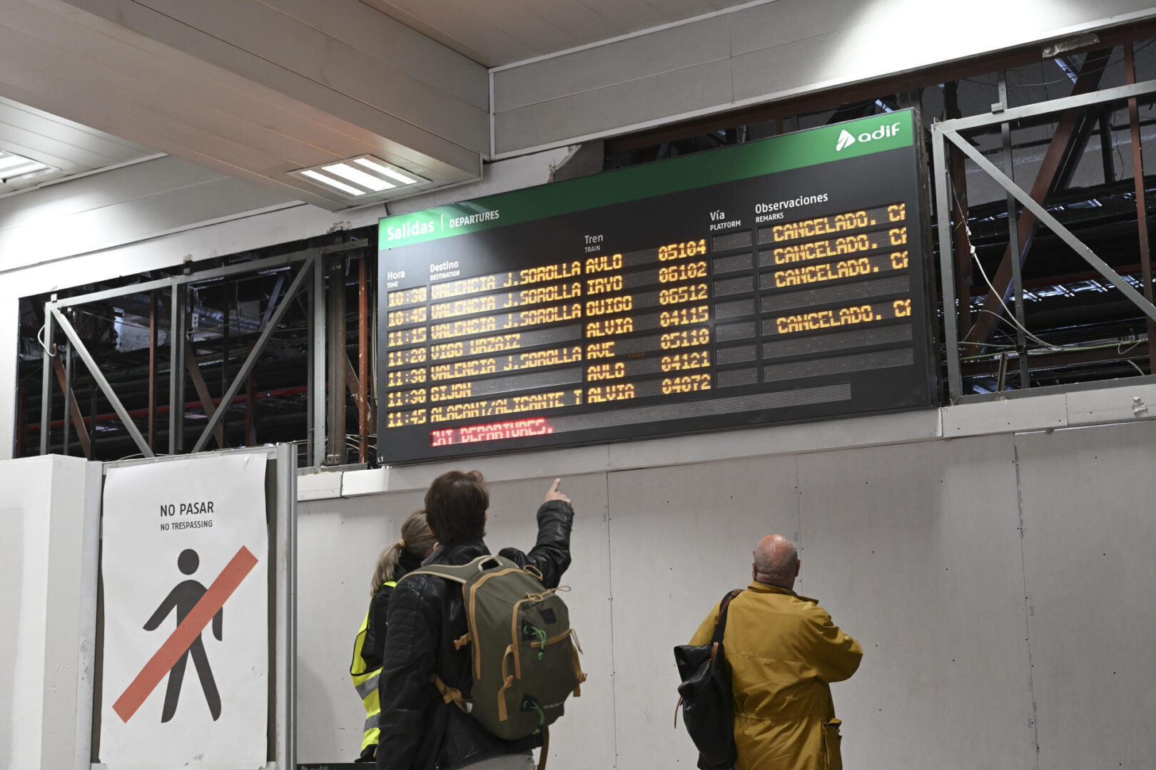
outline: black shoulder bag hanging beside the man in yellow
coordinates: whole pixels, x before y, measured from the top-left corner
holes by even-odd
[[[698,749],[699,770],[729,770],[734,767],[734,715],[731,707],[731,667],[722,652],[722,634],[731,601],[742,589],[729,591],[719,605],[719,620],[709,644],[680,644],[674,648],[679,665],[679,703],[682,722]],[[674,713],[675,726],[679,712]]]

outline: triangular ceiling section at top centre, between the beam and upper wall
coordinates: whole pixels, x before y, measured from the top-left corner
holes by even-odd
[[[749,0],[362,0],[487,67],[747,5]]]

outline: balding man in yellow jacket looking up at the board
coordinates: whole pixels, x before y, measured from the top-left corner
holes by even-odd
[[[862,648],[815,599],[791,589],[794,545],[770,534],[755,548],[754,581],[731,603],[722,646],[731,666],[736,770],[840,770],[830,682],[855,673]],[[707,644],[718,605],[691,644]]]

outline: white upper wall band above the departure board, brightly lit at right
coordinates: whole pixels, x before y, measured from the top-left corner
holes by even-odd
[[[494,73],[495,149],[517,154],[909,73],[1150,18],[1142,0],[772,0]],[[717,35],[727,28],[725,58]],[[701,32],[701,33],[699,33]],[[665,51],[662,55],[645,55]],[[676,52],[676,54],[675,54]],[[725,65],[726,88],[684,70]],[[665,70],[661,67],[666,66]],[[564,68],[564,73],[560,73]],[[623,83],[639,85],[624,90]],[[631,98],[655,90],[642,102]],[[608,97],[595,96],[603,94]],[[599,110],[591,114],[591,105]],[[523,120],[506,120],[505,115]]]

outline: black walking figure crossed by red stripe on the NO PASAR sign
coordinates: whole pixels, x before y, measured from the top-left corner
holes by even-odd
[[[192,575],[200,566],[200,558],[195,551],[186,548],[178,556],[177,566],[183,574]],[[201,689],[205,691],[205,700],[208,702],[213,720],[216,722],[220,718],[221,697],[217,693],[216,681],[213,679],[208,657],[205,653],[201,633],[212,621],[213,635],[217,640],[222,638],[222,607],[255,566],[257,556],[249,548],[242,546],[208,589],[195,580],[187,580],[169,592],[169,596],[144,623],[144,630],[155,630],[173,610],[177,612],[177,628],[113,703],[113,711],[124,722],[127,723],[136,713],[136,710],[156,689],[165,674],[169,675],[169,686],[165,691],[161,722],[172,719],[177,711],[181,680],[190,656],[193,658],[193,666],[197,668],[197,675],[200,679]]]

